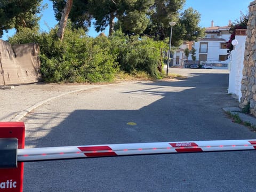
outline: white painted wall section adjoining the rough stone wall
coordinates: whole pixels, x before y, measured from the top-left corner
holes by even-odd
[[[241,81],[243,78],[246,36],[237,35],[236,39],[238,44],[235,49],[231,51],[228,93],[235,94],[240,102],[242,97]]]

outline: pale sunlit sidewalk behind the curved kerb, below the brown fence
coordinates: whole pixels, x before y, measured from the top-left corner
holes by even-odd
[[[31,110],[65,94],[94,89],[110,84],[45,84],[35,83],[0,90],[0,121],[21,121]]]

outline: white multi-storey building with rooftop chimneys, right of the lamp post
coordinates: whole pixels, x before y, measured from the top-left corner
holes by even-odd
[[[231,21],[229,21],[231,24]],[[227,67],[228,60],[226,42],[229,40],[229,26],[214,26],[205,28],[205,37],[195,42],[196,60],[198,64],[213,63],[213,66]]]

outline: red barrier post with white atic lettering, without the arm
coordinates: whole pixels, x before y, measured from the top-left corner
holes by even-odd
[[[12,145],[13,141],[18,139],[18,148],[23,149],[25,147],[25,125],[23,122],[0,122],[0,139],[4,139],[7,143],[6,146]],[[10,142],[9,142],[10,141]],[[17,142],[16,144],[17,145]],[[16,146],[17,151],[17,146]],[[16,152],[17,153],[17,152]],[[15,154],[14,154],[15,155]],[[12,154],[13,156],[13,154]],[[14,156],[15,157],[15,156]],[[23,162],[17,162],[16,159],[10,159],[15,161],[17,165],[4,167],[0,169],[0,192],[22,192],[23,187]],[[1,162],[2,161],[2,162]],[[0,165],[3,164],[3,159],[0,159]]]

